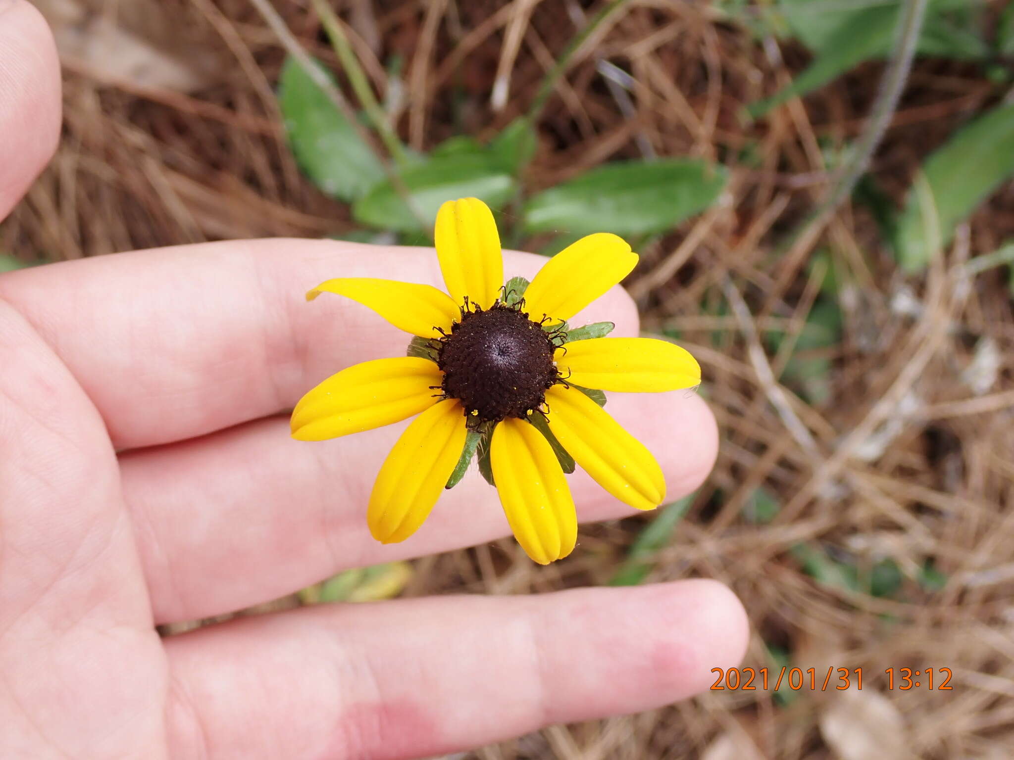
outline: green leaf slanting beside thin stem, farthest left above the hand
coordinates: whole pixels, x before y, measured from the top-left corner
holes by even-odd
[[[278,104],[296,160],[323,193],[354,201],[384,178],[373,148],[291,58],[282,67]]]

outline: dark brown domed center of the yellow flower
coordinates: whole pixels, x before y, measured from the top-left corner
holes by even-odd
[[[554,348],[551,335],[517,307],[465,311],[440,340],[443,391],[459,399],[476,424],[523,419],[557,381]]]

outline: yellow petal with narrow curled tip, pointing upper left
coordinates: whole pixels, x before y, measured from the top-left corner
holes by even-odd
[[[451,324],[461,317],[454,301],[432,285],[343,277],[320,283],[306,294],[306,300],[312,301],[324,292],[358,301],[399,329],[423,337],[438,337],[440,330],[437,327],[450,332]]]

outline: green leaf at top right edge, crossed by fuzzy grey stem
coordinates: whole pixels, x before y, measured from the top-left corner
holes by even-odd
[[[975,30],[979,14],[974,6],[969,0],[931,0],[917,52],[960,60],[988,58],[989,46]],[[814,59],[789,86],[750,105],[753,118],[815,90],[864,61],[886,58],[894,44],[900,2],[779,0],[778,7],[793,35],[813,51]]]

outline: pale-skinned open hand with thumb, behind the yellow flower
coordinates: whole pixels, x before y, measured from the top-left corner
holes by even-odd
[[[0,0],[0,218],[52,155],[60,107],[45,22]],[[505,269],[530,277],[542,260],[507,254]],[[325,605],[158,636],[345,568],[507,535],[469,473],[383,546],[366,501],[405,424],[289,438],[303,392],[408,339],[303,292],[391,276],[440,285],[432,251],[308,240],[0,276],[0,757],[425,757],[651,709],[738,664],[742,607],[709,580]],[[583,316],[637,333],[620,289]],[[608,409],[656,454],[670,499],[707,476],[717,434],[698,396],[613,394]],[[580,472],[570,482],[582,522],[633,512]]]

